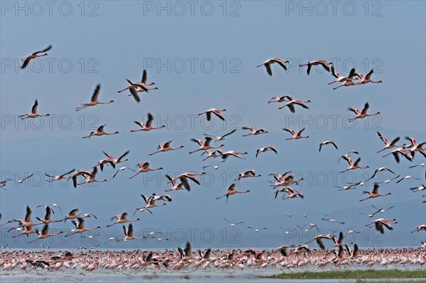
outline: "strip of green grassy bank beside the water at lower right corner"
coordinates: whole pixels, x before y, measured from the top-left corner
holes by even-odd
[[[280,279],[395,279],[426,278],[426,270],[330,270],[286,272],[267,278]],[[360,281],[361,282],[361,281]]]

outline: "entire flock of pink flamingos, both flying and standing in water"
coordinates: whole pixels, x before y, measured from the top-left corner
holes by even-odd
[[[31,60],[36,57],[46,56],[50,49],[51,45],[45,50],[41,50],[38,52],[34,52],[28,57],[23,59],[22,68],[26,68]],[[277,65],[282,67],[284,70],[287,70],[286,64],[288,61],[281,60],[280,58],[272,58],[270,60],[266,60],[261,65],[257,67],[265,67],[266,72],[272,76],[272,67],[273,65]],[[307,62],[306,64],[300,65],[300,67],[307,67],[307,74],[309,75],[313,66],[322,66],[324,70],[327,72],[331,72],[334,77],[334,81],[329,84],[340,83],[339,87],[335,87],[334,89],[339,89],[340,87],[359,87],[363,84],[371,84],[371,83],[381,83],[382,81],[373,81],[371,79],[373,75],[373,70],[368,72],[368,74],[364,75],[359,72],[356,72],[355,69],[352,69],[347,76],[339,74],[336,70],[334,70],[334,66],[332,62],[327,62],[324,60],[315,60]],[[278,72],[275,70],[274,72]],[[119,90],[118,92],[129,90],[129,96],[132,96],[137,102],[141,101],[141,95],[143,93],[148,93],[151,90],[157,89],[157,87],[151,87],[155,83],[147,82],[147,73],[146,70],[143,70],[143,77],[141,82],[132,82],[127,79],[129,85],[127,85],[124,89]],[[81,106],[77,107],[75,111],[81,111],[83,109],[97,106],[99,104],[111,104],[114,101],[101,102],[98,100],[99,92],[101,90],[101,85],[98,84],[94,92],[92,94],[92,99],[86,103],[81,104]],[[310,100],[302,101],[298,99],[293,99],[293,97],[288,94],[285,96],[274,96],[269,104],[278,103],[281,106],[279,109],[288,109],[288,111],[295,113],[296,109],[309,109]],[[299,108],[300,107],[300,108]],[[366,118],[368,116],[376,116],[379,115],[380,112],[368,113],[370,105],[368,103],[364,104],[363,109],[349,108],[349,111],[354,112],[354,117],[349,119],[350,121],[354,121],[356,119]],[[206,111],[199,113],[199,116],[205,115],[207,116],[207,120],[211,119],[221,119],[224,120],[223,112],[225,109],[216,109],[211,108]],[[38,113],[38,101],[35,100],[33,108],[30,113],[25,113],[20,117],[22,119],[27,118],[36,118],[49,116],[49,114],[40,114]],[[136,131],[161,131],[165,126],[155,127],[153,124],[154,117],[151,113],[147,115],[147,121],[139,122],[135,121],[136,128],[131,130],[131,132]],[[99,126],[97,131],[93,131],[83,138],[94,138],[100,137],[102,135],[115,135],[118,134],[118,131],[115,132],[107,132],[105,131],[106,125]],[[289,129],[283,128],[283,131],[288,132],[290,135],[287,140],[299,140],[303,138],[309,138],[309,136],[303,135],[302,129]],[[164,130],[163,130],[164,131]],[[194,142],[198,148],[190,151],[190,154],[195,152],[202,152],[205,155],[204,160],[214,160],[218,158],[220,160],[216,165],[205,165],[203,170],[206,170],[209,167],[214,169],[218,169],[219,165],[222,162],[226,162],[229,159],[233,158],[244,158],[243,155],[248,155],[249,152],[239,152],[236,150],[221,150],[224,147],[224,144],[213,145],[215,142],[223,142],[225,138],[228,138],[230,135],[237,135],[237,129],[229,131],[229,133],[224,133],[222,136],[215,136],[210,134],[205,134],[204,138],[195,139],[192,138],[191,141]],[[265,128],[253,128],[253,127],[242,127],[241,131],[244,131],[244,137],[250,135],[263,135],[267,134],[268,131]],[[388,140],[384,135],[378,133],[378,138],[380,138],[384,147],[378,150],[378,152],[388,151],[383,157],[388,155],[393,155],[395,162],[402,162],[400,157],[404,157],[409,162],[413,162],[415,157],[421,158],[426,157],[426,149],[423,148],[425,143],[417,143],[415,138],[405,137],[407,143],[398,144],[400,137],[394,138],[393,140]],[[158,150],[150,153],[149,155],[155,155],[159,152],[168,152],[170,150],[180,150],[184,148],[183,145],[173,147],[171,145],[172,141],[169,140],[165,143],[161,143],[158,145]],[[333,147],[335,150],[338,150],[338,144],[334,140],[325,140],[319,145],[319,152],[321,154],[321,150],[324,150],[324,147]],[[331,148],[330,148],[331,150]],[[266,152],[275,152],[277,154],[277,150],[273,146],[266,146],[264,148],[258,148],[256,152],[253,154],[256,155],[256,158],[260,154],[267,154]],[[98,170],[103,171],[106,167],[112,167],[115,170],[114,177],[121,171],[132,171],[133,174],[129,176],[129,178],[137,177],[138,174],[143,174],[145,172],[153,171],[153,170],[163,170],[163,167],[153,168],[151,167],[150,162],[140,162],[138,163],[138,167],[134,170],[131,167],[118,167],[120,163],[127,162],[126,156],[129,154],[129,151],[124,152],[118,158],[113,155],[104,152],[105,158],[103,160],[99,160],[94,167],[90,170],[70,170],[68,172],[64,172],[60,175],[50,175],[46,174],[50,179],[48,182],[56,182],[60,179],[72,179],[72,184],[74,187],[77,187],[81,184],[93,183],[93,182],[105,182],[105,179],[97,179]],[[422,155],[422,156],[421,156]],[[356,158],[354,158],[356,156]],[[351,150],[350,152],[340,156],[343,160],[346,160],[348,163],[348,167],[342,172],[346,172],[348,170],[359,170],[368,168],[368,166],[361,166],[361,157],[359,157],[359,152],[355,150]],[[416,159],[417,159],[416,158]],[[340,159],[339,159],[340,160]],[[411,165],[411,164],[410,164]],[[425,167],[425,163],[414,164],[412,167]],[[99,169],[98,169],[99,168]],[[401,175],[397,175],[397,173],[393,172],[391,168],[388,167],[380,167],[374,171],[371,178],[375,177],[378,173],[382,174],[391,174],[393,177],[381,183],[376,183],[373,185],[373,189],[371,191],[364,191],[363,194],[366,194],[364,199],[359,199],[359,201],[366,201],[368,199],[374,199],[377,197],[385,197],[390,195],[388,192],[386,194],[381,194],[379,189],[382,184],[386,186],[395,180],[395,183],[404,182],[405,179],[419,179],[413,176],[405,176],[401,177]],[[120,173],[123,174],[123,173]],[[200,175],[205,174],[204,172],[195,174],[191,172],[186,172],[183,174],[179,174],[178,176],[172,177],[166,175],[168,180],[170,181],[169,189],[166,189],[165,192],[175,192],[179,190],[190,191],[191,186],[195,184],[200,185],[199,177]],[[298,182],[301,179],[295,179],[293,172],[285,172],[283,174],[273,173],[270,174],[273,177],[273,183],[271,186],[275,190],[275,199],[278,195],[282,196],[282,199],[303,199],[304,194],[302,192],[297,191],[296,187]],[[256,174],[255,170],[249,170],[246,172],[241,172],[239,177],[234,180],[229,185],[227,191],[220,196],[217,196],[217,199],[226,198],[226,202],[228,201],[230,196],[238,195],[238,194],[248,194],[250,191],[239,191],[236,189],[236,183],[241,182],[242,179],[260,177],[260,174]],[[7,188],[7,182],[13,181],[18,182],[18,184],[23,183],[26,179],[31,178],[32,174],[24,179],[16,179],[11,180],[7,179],[1,182],[1,189]],[[419,179],[420,180],[420,179]],[[349,184],[348,186],[339,187],[340,190],[350,190],[356,189],[356,187],[364,186],[365,182],[357,182],[355,184]],[[420,185],[419,187],[410,188],[412,192],[421,192],[425,191],[425,185]],[[425,194],[419,194],[422,198],[425,198]],[[165,206],[168,202],[172,201],[172,195],[170,194],[152,194],[151,196],[141,195],[144,205],[136,208],[135,213],[147,211],[146,213],[151,213],[152,210]],[[420,200],[422,201],[422,200]],[[425,201],[422,201],[425,202]],[[37,207],[44,207],[45,216],[43,218],[36,217],[38,222],[33,222],[31,218],[31,208],[30,206],[26,206],[26,215],[24,218],[16,218],[4,223],[0,223],[0,226],[10,225],[9,231],[16,231],[13,235],[13,238],[26,236],[31,234],[36,234],[34,240],[31,240],[30,243],[34,241],[38,241],[38,243],[43,243],[41,240],[49,237],[53,237],[58,234],[65,233],[65,231],[59,231],[57,233],[49,233],[49,226],[52,223],[65,222],[70,220],[68,223],[73,225],[72,230],[68,231],[64,235],[65,237],[69,237],[70,235],[77,233],[84,233],[87,231],[94,231],[100,226],[94,228],[86,228],[84,225],[84,220],[87,218],[96,218],[92,213],[80,213],[78,208],[72,209],[65,217],[52,219],[53,214],[56,209],[60,209],[58,204],[41,204]],[[393,206],[389,207],[391,209]],[[368,218],[375,218],[376,215],[383,213],[388,209],[378,208],[371,212],[366,213],[365,215]],[[0,214],[1,217],[1,214]],[[324,216],[327,217],[327,216]],[[331,221],[336,223],[342,223],[335,219],[322,218],[324,221]],[[118,215],[111,218],[111,224],[107,227],[114,226],[115,224],[124,224],[122,226],[124,236],[122,238],[109,238],[107,243],[111,242],[126,242],[129,240],[143,239],[143,238],[157,238],[155,232],[148,233],[148,235],[134,235],[133,224],[131,222],[139,221],[140,218],[128,218],[128,211],[119,213]],[[243,222],[233,223],[224,219],[229,223],[231,227],[240,225]],[[13,225],[11,223],[17,223]],[[380,233],[384,233],[387,230],[393,230],[393,224],[397,223],[396,219],[385,219],[385,218],[376,218],[371,221],[371,223],[367,223],[366,226],[374,227]],[[36,226],[40,226],[42,228],[34,228]],[[262,228],[254,228],[249,226],[248,228],[253,229],[256,233],[260,232],[265,227]],[[112,229],[112,228],[111,228]],[[305,226],[302,226],[302,229],[305,231],[310,231],[311,229],[317,229],[317,224],[315,223],[306,223]],[[417,228],[413,228],[412,233],[418,233],[420,231],[426,231],[426,224],[419,224]],[[347,233],[358,233],[356,231],[349,231]],[[136,230],[137,234],[137,230]],[[409,234],[409,233],[408,233]],[[93,247],[92,250],[80,251],[80,252],[72,252],[72,251],[58,251],[53,252],[50,250],[40,250],[38,252],[28,252],[24,250],[13,251],[6,250],[5,248],[1,251],[0,256],[0,267],[3,270],[13,270],[16,267],[20,267],[22,270],[29,271],[32,268],[37,272],[38,268],[42,268],[45,270],[65,270],[68,268],[79,268],[80,270],[128,270],[131,272],[139,272],[140,270],[155,268],[155,269],[163,269],[163,270],[197,270],[200,267],[202,269],[210,269],[216,268],[218,270],[229,270],[232,268],[235,269],[244,269],[244,268],[255,268],[255,267],[274,267],[276,265],[285,267],[285,268],[293,268],[293,267],[302,267],[306,265],[316,265],[317,267],[324,267],[327,265],[333,266],[347,266],[347,265],[363,265],[367,267],[371,267],[373,265],[424,265],[426,262],[426,243],[422,242],[422,245],[419,248],[386,248],[386,249],[359,249],[356,243],[345,243],[345,235],[340,232],[339,235],[331,235],[331,234],[319,234],[316,235],[312,240],[307,243],[303,243],[302,245],[283,245],[276,250],[255,250],[254,248],[249,248],[248,250],[196,250],[193,251],[190,243],[187,243],[184,248],[178,248],[178,250],[163,250],[163,251],[143,251],[143,250],[126,250],[126,251],[102,251],[96,250],[98,246]],[[168,240],[165,238],[157,238],[160,240]],[[109,242],[111,241],[111,242]],[[311,242],[315,242],[317,247],[312,248],[312,245],[308,247]],[[326,248],[326,244],[330,244],[330,248]],[[352,248],[351,248],[352,247]],[[336,248],[336,249],[334,249]]]

